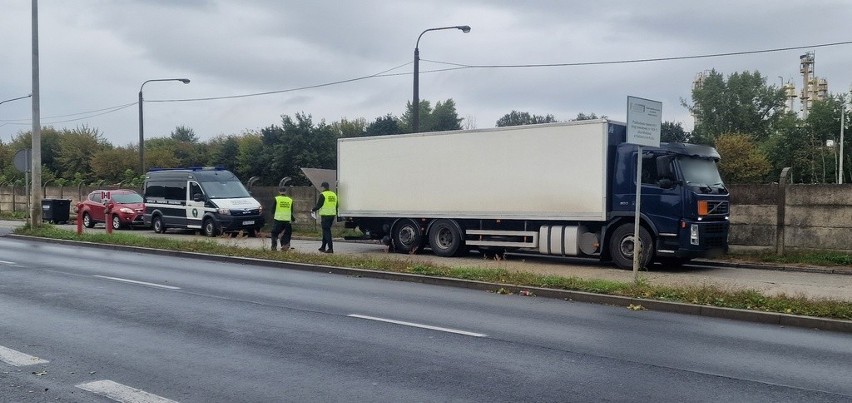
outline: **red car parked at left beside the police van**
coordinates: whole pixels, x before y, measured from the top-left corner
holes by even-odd
[[[142,195],[129,189],[95,190],[77,204],[77,214],[83,216],[83,225],[93,228],[97,223],[106,223],[106,211],[112,212],[112,228],[144,226],[142,214],[145,205]]]

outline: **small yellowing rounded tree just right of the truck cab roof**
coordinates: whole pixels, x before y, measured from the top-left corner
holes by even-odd
[[[720,135],[716,139],[716,150],[722,156],[719,173],[728,183],[761,183],[771,168],[766,154],[747,134]]]

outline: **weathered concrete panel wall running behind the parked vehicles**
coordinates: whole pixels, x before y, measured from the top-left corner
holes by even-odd
[[[94,187],[45,188],[45,198],[71,200],[74,206]],[[277,188],[253,187],[271,222]],[[843,185],[732,185],[732,250],[834,250],[852,253],[852,184]],[[315,225],[310,210],[319,192],[313,187],[293,187],[296,224]],[[22,186],[0,186],[0,212],[26,211]],[[345,201],[344,201],[345,202]]]

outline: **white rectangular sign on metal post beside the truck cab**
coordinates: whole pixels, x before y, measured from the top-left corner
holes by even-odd
[[[642,242],[639,221],[642,201],[642,146],[659,147],[663,124],[663,103],[627,97],[627,143],[636,144],[636,212],[633,225],[633,281],[639,281],[639,255]]]

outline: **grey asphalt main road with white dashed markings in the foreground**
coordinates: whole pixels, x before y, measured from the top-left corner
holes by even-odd
[[[0,250],[0,401],[852,399],[848,334],[9,238]]]

